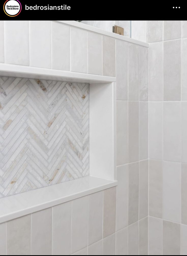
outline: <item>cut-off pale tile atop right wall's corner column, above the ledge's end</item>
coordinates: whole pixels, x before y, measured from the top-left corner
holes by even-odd
[[[163,21],[147,20],[147,42],[158,42],[163,40]]]

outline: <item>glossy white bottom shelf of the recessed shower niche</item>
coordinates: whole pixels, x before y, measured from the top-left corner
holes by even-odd
[[[0,199],[0,223],[117,185],[116,180],[86,176]]]

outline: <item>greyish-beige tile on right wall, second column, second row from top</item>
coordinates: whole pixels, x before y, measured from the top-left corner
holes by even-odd
[[[164,100],[181,100],[181,40],[164,42]]]

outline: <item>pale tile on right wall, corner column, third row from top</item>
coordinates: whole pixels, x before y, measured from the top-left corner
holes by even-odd
[[[163,159],[163,102],[149,102],[149,158]]]

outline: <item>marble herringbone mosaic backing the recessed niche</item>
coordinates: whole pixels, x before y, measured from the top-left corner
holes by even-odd
[[[0,197],[89,174],[89,84],[0,77]]]

